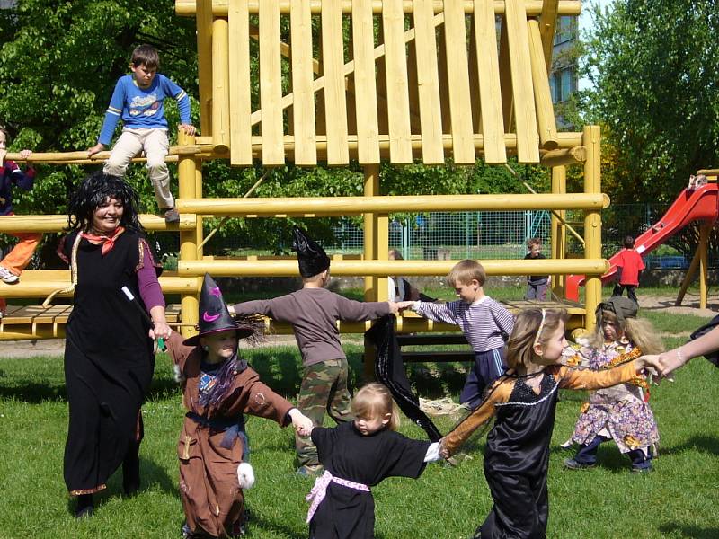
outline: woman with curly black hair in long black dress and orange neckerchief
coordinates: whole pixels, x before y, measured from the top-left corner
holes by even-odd
[[[67,206],[70,233],[58,248],[75,289],[67,320],[65,380],[69,426],[65,482],[75,517],[93,514],[93,494],[122,464],[126,494],[139,488],[140,406],[155,367],[153,340],[169,337],[155,263],[138,221],[138,195],[95,172]],[[123,294],[128,287],[138,305]],[[145,314],[146,310],[154,327]]]

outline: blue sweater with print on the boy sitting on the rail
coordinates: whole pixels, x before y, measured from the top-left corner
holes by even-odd
[[[173,97],[180,109],[180,121],[190,123],[190,98],[184,90],[164,75],[157,74],[147,88],[140,88],[133,75],[124,75],[115,84],[110,106],[105,113],[98,142],[110,146],[112,134],[122,118],[124,127],[167,128],[164,119],[164,98]]]

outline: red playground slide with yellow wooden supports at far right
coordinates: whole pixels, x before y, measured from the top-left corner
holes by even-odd
[[[665,243],[674,234],[685,226],[701,222],[699,232],[699,246],[694,258],[689,264],[687,275],[679,288],[676,305],[681,305],[682,299],[694,274],[699,268],[699,303],[701,308],[706,308],[706,251],[709,232],[719,220],[719,186],[717,186],[716,174],[719,170],[701,170],[697,175],[704,174],[708,182],[693,189],[684,189],[679,193],[677,199],[656,224],[652,225],[644,234],[635,238],[635,249],[643,257],[652,250]],[[617,261],[619,253],[609,259],[609,270],[601,276],[602,283],[607,283],[617,274]],[[579,287],[584,284],[583,275],[570,275],[566,278],[564,287],[567,299],[577,301],[579,299]]]

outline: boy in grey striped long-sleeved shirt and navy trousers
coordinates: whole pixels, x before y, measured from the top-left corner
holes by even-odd
[[[411,308],[435,322],[457,324],[475,352],[475,365],[467,373],[459,402],[474,409],[484,388],[504,374],[504,340],[514,327],[514,316],[502,305],[484,294],[486,273],[478,261],[459,261],[449,271],[447,282],[459,299],[447,304],[422,301],[401,302],[400,309]]]

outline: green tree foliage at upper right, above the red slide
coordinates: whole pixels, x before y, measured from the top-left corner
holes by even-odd
[[[593,10],[586,120],[605,127],[617,202],[670,201],[719,157],[716,0],[616,0]]]

